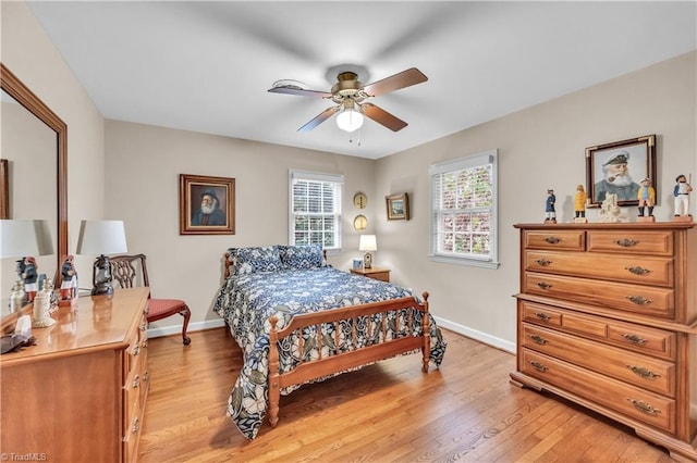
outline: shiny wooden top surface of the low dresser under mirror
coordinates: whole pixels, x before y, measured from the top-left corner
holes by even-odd
[[[149,288],[117,289],[111,298],[78,298],[73,306],[59,308],[51,317],[56,324],[32,328],[36,346],[0,356],[0,365],[9,366],[38,360],[45,355],[71,355],[81,349],[114,349],[125,345],[138,329],[139,314],[147,306]],[[30,315],[29,315],[30,316]]]

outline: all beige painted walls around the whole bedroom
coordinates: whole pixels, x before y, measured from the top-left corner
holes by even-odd
[[[558,192],[560,220],[571,220],[574,187],[585,183],[586,147],[657,134],[659,220],[672,214],[675,175],[697,174],[695,52],[375,162],[115,121],[105,129],[26,5],[5,1],[1,8],[2,62],[68,124],[71,252],[81,220],[124,220],[130,250],[148,254],[155,296],[186,299],[194,327],[219,322],[210,306],[225,248],[286,242],[289,168],[345,175],[345,251],[331,263],[347,267],[359,256],[351,198],[364,190],[367,232],[378,234],[376,265],[391,267],[398,284],[428,290],[443,326],[504,349],[515,340],[513,224],[541,222],[548,187]],[[428,165],[492,148],[500,155],[500,268],[430,262]],[[236,235],[179,235],[182,173],[236,178]],[[383,198],[402,191],[412,195],[413,218],[387,222]],[[81,286],[90,286],[90,263],[78,258]],[[159,326],[174,331],[176,323]]]

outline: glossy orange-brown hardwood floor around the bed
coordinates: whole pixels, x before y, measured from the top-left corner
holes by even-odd
[[[440,370],[405,355],[281,397],[253,441],[225,416],[242,364],[223,328],[151,339],[146,462],[672,462],[631,429],[509,383],[515,358],[443,330]]]

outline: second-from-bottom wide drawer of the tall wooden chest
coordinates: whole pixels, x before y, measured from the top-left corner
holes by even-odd
[[[675,398],[675,364],[577,336],[523,324],[521,346]]]

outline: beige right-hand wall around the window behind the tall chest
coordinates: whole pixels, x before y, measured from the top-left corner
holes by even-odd
[[[697,182],[695,52],[606,82],[377,162],[376,196],[412,195],[409,222],[378,224],[378,264],[394,279],[431,293],[432,312],[462,333],[513,349],[518,288],[515,223],[545,218],[547,188],[557,192],[558,218],[573,220],[573,195],[585,180],[585,149],[656,134],[659,203],[670,220],[677,174]],[[466,109],[466,104],[465,104]],[[482,270],[430,262],[428,165],[499,149],[499,258]],[[695,210],[693,205],[693,211]],[[626,210],[636,216],[634,208]],[[592,222],[597,210],[589,211]]]

